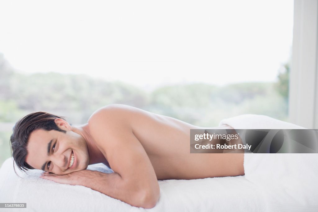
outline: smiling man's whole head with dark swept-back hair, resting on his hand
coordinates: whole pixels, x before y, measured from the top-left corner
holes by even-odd
[[[10,142],[13,159],[23,171],[36,168],[68,174],[88,166],[86,140],[60,116],[46,112],[26,115],[13,127]]]

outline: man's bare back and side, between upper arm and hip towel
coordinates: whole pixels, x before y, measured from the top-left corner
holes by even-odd
[[[116,116],[112,116],[117,117],[116,120],[105,121],[122,126],[122,133],[132,130],[146,151],[158,180],[244,175],[244,154],[190,154],[190,129],[204,128],[135,107],[113,107],[119,108]],[[107,107],[101,110],[108,113]],[[227,125],[213,128],[232,129]]]

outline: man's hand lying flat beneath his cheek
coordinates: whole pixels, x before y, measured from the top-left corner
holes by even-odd
[[[99,174],[98,171],[80,170],[69,174],[58,175],[44,172],[40,177],[54,182],[69,184],[69,185],[81,185],[86,186],[89,181],[94,181],[94,178]]]

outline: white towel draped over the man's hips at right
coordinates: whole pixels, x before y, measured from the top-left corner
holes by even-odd
[[[224,119],[234,129],[306,129],[264,115]],[[318,211],[318,154],[244,154],[245,178],[260,189],[269,211]]]

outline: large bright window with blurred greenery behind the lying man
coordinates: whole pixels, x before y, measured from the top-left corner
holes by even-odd
[[[290,0],[12,2],[0,8],[0,122],[45,110],[82,124],[111,103],[202,127],[288,120]]]

